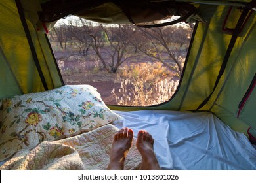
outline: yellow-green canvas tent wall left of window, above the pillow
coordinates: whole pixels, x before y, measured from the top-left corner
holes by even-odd
[[[1,1],[0,9],[0,98],[45,90],[35,67],[16,2]],[[58,67],[45,35],[37,33],[28,19],[26,24],[48,88],[62,86]]]

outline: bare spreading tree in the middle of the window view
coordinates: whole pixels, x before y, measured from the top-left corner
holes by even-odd
[[[71,20],[67,29],[72,33],[71,40],[79,48],[79,53],[86,56],[92,48],[92,54],[109,73],[116,73],[120,65],[133,57],[129,39],[134,33],[131,25],[109,26],[79,18]]]

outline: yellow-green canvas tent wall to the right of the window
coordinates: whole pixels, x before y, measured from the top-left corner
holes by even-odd
[[[187,92],[185,96],[183,95],[184,100],[180,107],[181,109],[190,108],[193,110],[194,107],[198,107],[213,88],[213,84],[219,73],[219,68],[221,67],[221,61],[223,61],[224,54],[226,53],[226,46],[228,46],[232,36],[220,31],[223,25],[223,14],[225,14],[227,9],[228,7],[216,8],[207,31],[203,31],[203,34],[206,34],[205,37],[200,36],[205,39],[198,42],[199,45],[193,44],[193,46],[200,46],[194,47],[194,49],[192,47],[192,52],[196,54],[199,60],[196,66],[193,65],[195,68],[191,79],[193,83],[187,84],[186,86],[193,87],[193,91],[201,90],[203,92],[196,93],[196,95],[195,93]],[[221,10],[223,10],[223,13],[218,14]],[[217,90],[215,90],[207,105],[202,108],[202,110],[211,110],[217,114],[221,120],[228,122],[228,125],[235,129],[236,125],[242,125],[238,120],[242,120],[253,127],[256,125],[255,120],[253,120],[255,114],[253,114],[252,111],[253,108],[255,110],[255,104],[253,107],[255,95],[251,95],[247,101],[245,107],[249,108],[242,110],[238,120],[234,119],[237,116],[238,105],[244,97],[256,71],[256,63],[253,61],[253,58],[256,58],[255,49],[253,49],[253,45],[255,45],[256,41],[255,22],[255,12],[253,12],[246,27],[244,27],[242,33],[240,33],[240,37],[238,37],[236,41],[230,58],[228,59],[226,70],[217,86]],[[200,31],[197,31],[197,33],[201,33],[204,27],[200,25],[198,28]],[[198,50],[202,50],[202,52],[198,52]],[[188,59],[188,62],[189,61],[190,58]],[[182,81],[184,81],[184,78]],[[207,84],[210,84],[208,88],[203,87]]]

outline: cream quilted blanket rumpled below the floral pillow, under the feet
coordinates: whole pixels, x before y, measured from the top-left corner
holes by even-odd
[[[42,142],[33,150],[20,150],[0,169],[106,169],[114,134],[111,124],[88,133],[54,142]],[[141,158],[133,139],[125,169],[139,169]]]

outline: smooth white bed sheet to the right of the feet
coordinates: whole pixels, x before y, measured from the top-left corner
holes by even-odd
[[[255,146],[210,112],[114,112],[124,118],[116,127],[151,133],[161,169],[256,169]]]

